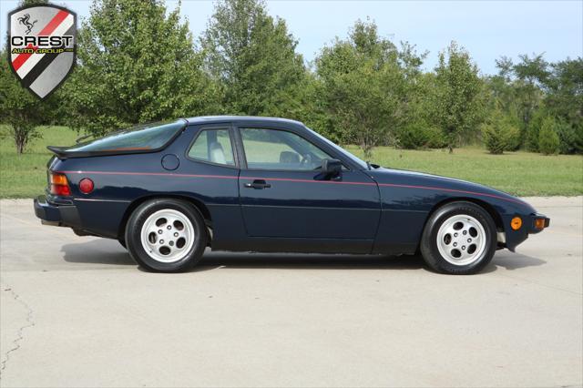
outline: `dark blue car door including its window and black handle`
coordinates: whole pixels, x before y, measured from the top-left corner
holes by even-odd
[[[324,158],[338,158],[282,128],[238,127],[240,205],[250,237],[372,240],[380,217],[379,191],[347,164],[322,179]]]

